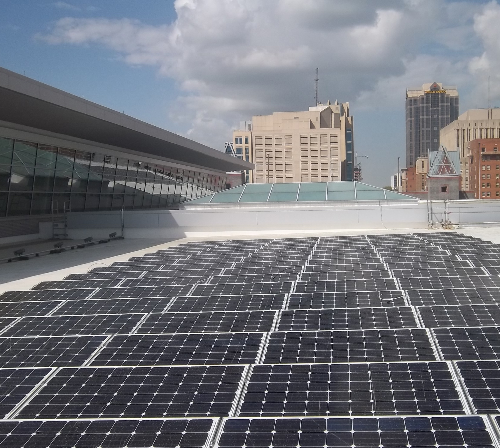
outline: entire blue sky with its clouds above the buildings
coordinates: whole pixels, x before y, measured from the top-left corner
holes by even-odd
[[[365,181],[404,164],[404,92],[500,105],[500,6],[446,0],[3,0],[0,65],[219,149],[239,120],[349,101]]]

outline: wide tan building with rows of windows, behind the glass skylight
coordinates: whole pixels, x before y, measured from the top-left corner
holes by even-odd
[[[256,115],[250,129],[233,132],[238,142],[245,141],[245,132],[252,137],[248,161],[255,163],[255,170],[249,175],[250,182],[352,180],[353,117],[349,103],[328,101],[307,111]]]

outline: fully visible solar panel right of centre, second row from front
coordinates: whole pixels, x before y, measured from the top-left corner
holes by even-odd
[[[238,416],[459,414],[446,362],[252,367]]]

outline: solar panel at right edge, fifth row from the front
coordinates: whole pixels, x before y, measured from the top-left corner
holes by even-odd
[[[487,304],[500,301],[500,288],[419,289],[407,293],[414,306]]]

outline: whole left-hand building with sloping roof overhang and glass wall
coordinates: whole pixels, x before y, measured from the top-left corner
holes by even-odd
[[[54,213],[172,208],[253,165],[0,68],[0,237]]]

